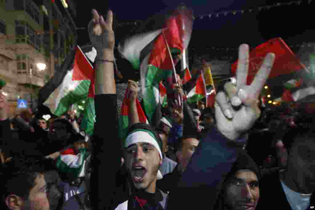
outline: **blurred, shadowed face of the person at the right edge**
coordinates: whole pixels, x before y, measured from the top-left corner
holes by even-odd
[[[287,161],[287,171],[300,192],[315,190],[314,139],[297,139]]]

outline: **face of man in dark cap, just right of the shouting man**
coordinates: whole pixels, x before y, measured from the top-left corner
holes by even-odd
[[[192,154],[195,152],[196,147],[199,144],[198,139],[189,138],[182,140],[182,148],[177,151],[177,158],[179,161],[179,168],[183,172],[185,171]]]

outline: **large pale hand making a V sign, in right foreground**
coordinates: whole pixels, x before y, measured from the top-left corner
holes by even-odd
[[[248,131],[260,116],[258,97],[261,93],[275,59],[273,53],[266,55],[254,81],[246,85],[249,68],[249,46],[239,47],[236,84],[224,85],[225,92],[216,96],[215,118],[219,131],[228,139],[235,140]],[[236,108],[236,109],[235,109]]]

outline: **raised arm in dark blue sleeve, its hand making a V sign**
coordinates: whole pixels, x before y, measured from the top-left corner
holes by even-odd
[[[200,141],[178,188],[170,195],[168,209],[197,209],[204,206],[213,209],[223,181],[246,142],[246,132],[260,116],[258,96],[274,62],[275,55],[268,54],[254,81],[247,86],[248,51],[248,45],[240,46],[237,82],[226,83],[224,91],[220,91],[216,97],[217,128],[213,128]],[[235,110],[232,105],[238,109]]]

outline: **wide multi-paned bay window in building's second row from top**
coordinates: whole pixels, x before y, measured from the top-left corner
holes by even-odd
[[[40,50],[42,43],[42,35],[38,35],[36,31],[25,21],[15,21],[16,43],[28,43]]]

